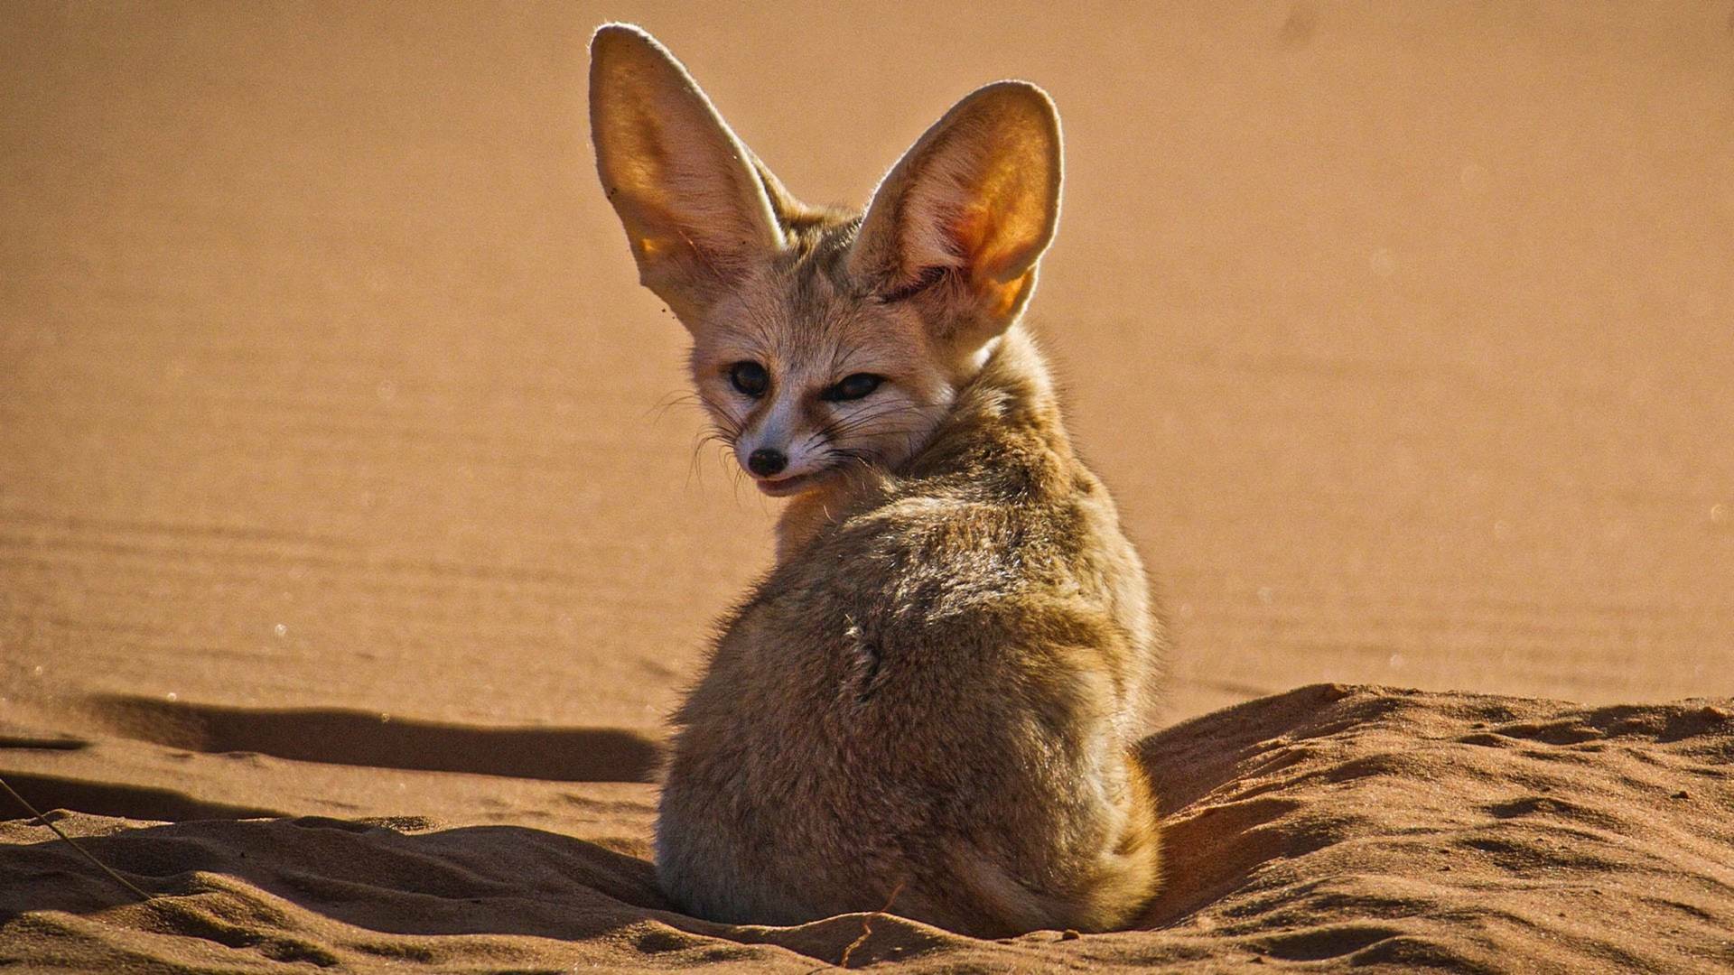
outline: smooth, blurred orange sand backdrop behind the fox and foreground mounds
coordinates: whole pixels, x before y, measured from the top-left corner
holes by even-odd
[[[1028,321],[1172,616],[1153,725],[1734,694],[1727,2],[12,0],[0,722],[85,746],[0,772],[134,821],[643,777],[775,508],[596,187],[607,19],[812,201],[1054,95]]]

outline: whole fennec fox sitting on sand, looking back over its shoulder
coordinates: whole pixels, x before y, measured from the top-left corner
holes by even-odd
[[[1157,887],[1131,748],[1162,633],[1018,324],[1059,212],[1053,102],[980,88],[864,215],[789,196],[636,28],[596,31],[590,121],[699,397],[789,498],[675,715],[662,888],[733,923],[893,895],[987,937],[1131,921]]]

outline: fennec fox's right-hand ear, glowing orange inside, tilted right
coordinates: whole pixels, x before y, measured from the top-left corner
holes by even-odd
[[[1027,82],[999,82],[936,121],[874,191],[850,272],[883,298],[942,302],[943,340],[980,345],[1035,290],[1059,220],[1059,115]]]

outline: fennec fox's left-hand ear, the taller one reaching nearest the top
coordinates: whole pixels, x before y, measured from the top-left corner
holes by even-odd
[[[605,24],[591,38],[590,134],[638,279],[688,328],[754,262],[782,250],[775,208],[787,205],[786,193],[645,31]]]

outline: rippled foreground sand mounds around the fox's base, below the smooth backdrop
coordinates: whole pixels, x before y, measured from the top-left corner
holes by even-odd
[[[0,751],[7,777],[78,808],[121,808],[149,788],[179,796],[180,812],[222,817],[246,812],[201,786],[244,786],[241,762],[269,805],[331,802],[269,789],[319,781],[302,758],[66,741],[16,729]],[[567,744],[584,741],[610,739]],[[532,767],[524,779],[416,772],[394,789],[395,772],[350,765],[328,779],[361,810],[343,819],[57,817],[163,895],[149,904],[125,902],[40,826],[0,826],[0,965],[810,972],[836,965],[864,926],[851,966],[1734,965],[1734,701],[1585,708],[1318,685],[1151,736],[1144,756],[1167,803],[1170,880],[1132,932],[983,942],[895,916],[713,925],[673,913],[655,888],[649,784],[551,782]],[[224,774],[201,779],[203,763]],[[277,774],[288,765],[303,774]],[[80,769],[130,784],[64,777]],[[480,798],[440,805],[461,821],[435,822],[376,815],[404,802],[392,795]]]

